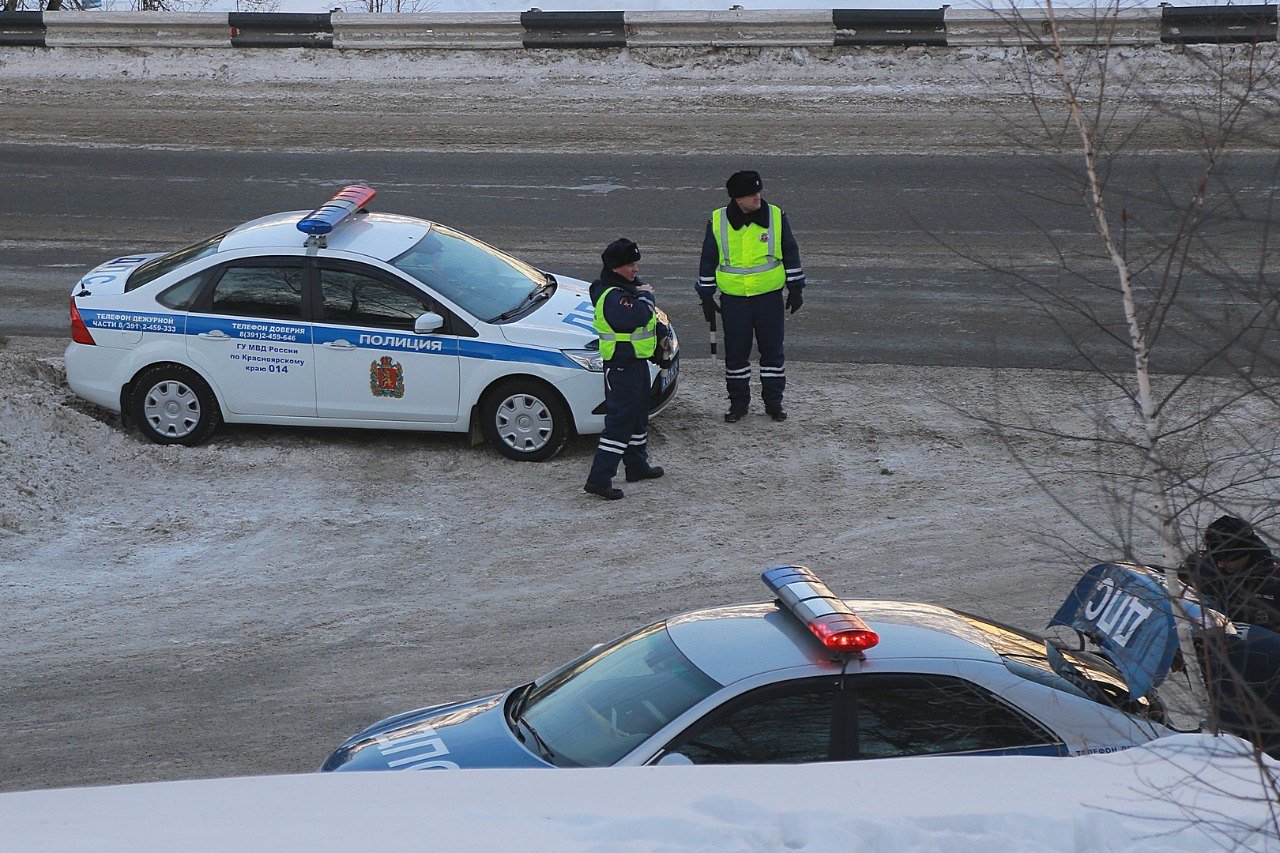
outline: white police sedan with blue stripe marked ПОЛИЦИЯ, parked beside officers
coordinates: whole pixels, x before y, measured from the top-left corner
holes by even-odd
[[[311,214],[255,219],[76,284],[67,380],[160,443],[220,420],[483,434],[553,456],[604,426],[585,282],[438,223],[367,213],[347,187]],[[666,318],[663,318],[666,319]],[[678,345],[653,368],[657,412]]]

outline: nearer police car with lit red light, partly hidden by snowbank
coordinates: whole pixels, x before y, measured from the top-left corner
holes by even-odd
[[[1130,698],[1087,652],[943,607],[845,602],[808,569],[764,580],[774,603],[667,619],[507,693],[383,720],[321,770],[1068,756],[1169,734],[1155,694]]]

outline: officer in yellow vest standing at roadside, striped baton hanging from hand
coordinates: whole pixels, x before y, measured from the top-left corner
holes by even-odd
[[[804,269],[800,247],[787,215],[760,197],[764,184],[758,172],[735,172],[724,184],[730,202],[712,211],[703,237],[698,269],[698,296],[703,316],[724,318],[724,384],[728,411],[736,423],[751,401],[751,338],[760,350],[760,396],[773,420],[786,420],[782,391],[787,378],[782,355],[783,301],[792,314],[804,305]],[[716,292],[721,301],[716,305]]]

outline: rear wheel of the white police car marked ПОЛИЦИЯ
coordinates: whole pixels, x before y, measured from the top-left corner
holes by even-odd
[[[189,368],[160,365],[138,377],[129,397],[133,421],[157,444],[193,447],[221,420],[214,392]]]

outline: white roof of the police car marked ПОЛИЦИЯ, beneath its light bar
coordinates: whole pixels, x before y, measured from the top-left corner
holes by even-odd
[[[302,248],[307,236],[298,231],[298,222],[308,213],[307,210],[291,210],[247,222],[228,232],[218,251],[260,248],[268,254],[282,248]],[[328,248],[334,251],[390,261],[422,240],[430,228],[430,222],[413,216],[357,213],[343,222],[342,227],[328,234],[326,243]]]

